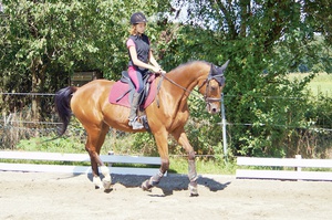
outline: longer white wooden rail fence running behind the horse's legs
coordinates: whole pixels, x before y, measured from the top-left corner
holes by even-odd
[[[87,154],[61,154],[61,153],[32,153],[32,151],[0,151],[0,170],[6,171],[34,171],[34,172],[71,172],[71,174],[90,174],[90,157]],[[101,159],[112,166],[112,164],[122,165],[160,165],[159,157],[138,157],[138,156],[117,156],[101,155]],[[33,160],[33,164],[21,163],[24,160]],[[69,163],[89,163],[89,166],[75,165],[48,165],[43,161],[63,161]],[[142,167],[111,167],[112,174],[121,175],[146,175],[157,174],[158,168]]]

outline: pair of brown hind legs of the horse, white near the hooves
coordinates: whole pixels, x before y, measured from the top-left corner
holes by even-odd
[[[87,140],[85,144],[85,150],[89,153],[91,159],[93,184],[97,188],[105,189],[110,189],[112,180],[110,169],[102,161],[100,157],[100,151],[104,144],[108,128],[110,127],[106,124],[103,124],[101,127],[86,128]],[[98,166],[101,167],[101,171],[104,176],[103,182],[100,178]]]

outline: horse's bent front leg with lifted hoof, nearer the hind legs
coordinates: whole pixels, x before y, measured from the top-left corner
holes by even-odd
[[[148,180],[142,184],[142,189],[147,191],[159,184],[160,179],[169,168],[168,144],[167,144],[168,135],[166,132],[163,132],[163,133],[155,134],[154,136],[155,136],[156,144],[158,146],[158,153],[162,158],[162,166],[155,176],[152,176]]]

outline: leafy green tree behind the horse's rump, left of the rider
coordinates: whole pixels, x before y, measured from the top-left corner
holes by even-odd
[[[136,1],[120,0],[3,0],[3,87],[32,93],[54,92],[75,70],[100,70],[108,78],[118,77],[126,66],[128,19],[124,18],[146,6],[149,14],[160,9],[156,1],[135,8]],[[41,106],[39,97],[33,98],[33,118],[40,118]]]

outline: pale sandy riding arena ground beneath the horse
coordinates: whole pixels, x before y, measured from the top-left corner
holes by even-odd
[[[0,219],[332,219],[332,182],[200,176],[189,197],[186,176],[112,175],[113,190],[95,189],[86,175],[0,171]]]

